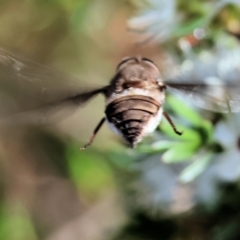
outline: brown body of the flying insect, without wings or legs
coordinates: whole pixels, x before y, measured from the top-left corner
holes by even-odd
[[[105,93],[109,127],[134,147],[158,126],[164,89],[160,73],[149,59],[123,59]]]

